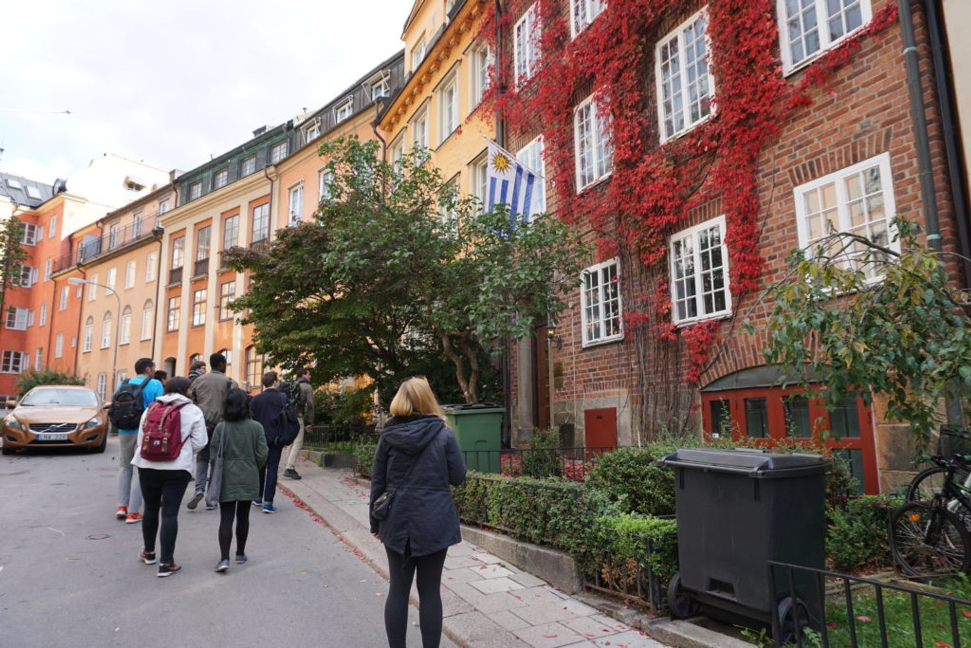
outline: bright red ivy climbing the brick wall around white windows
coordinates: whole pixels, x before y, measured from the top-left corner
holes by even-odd
[[[733,302],[741,303],[743,295],[757,290],[764,264],[759,251],[759,153],[794,111],[812,103],[810,90],[824,86],[859,51],[864,38],[896,21],[895,3],[887,0],[870,23],[822,54],[797,84],[790,85],[777,54],[775,0],[709,0],[705,12],[716,83],[713,115],[684,136],[658,146],[655,90],[648,70],[654,45],[665,35],[661,21],[678,18],[671,13],[686,8],[686,2],[609,0],[603,13],[573,39],[560,2],[537,0],[543,52],[539,71],[517,91],[511,71],[505,70],[507,91],[493,93],[484,105],[497,107],[514,132],[542,132],[556,215],[566,222],[586,216],[604,237],[598,257],[616,254],[622,243],[643,264],[663,267],[666,236],[677,230],[692,207],[720,198],[727,224],[730,287]],[[509,4],[500,23],[506,34],[513,32],[511,17],[519,17],[532,3]],[[494,41],[494,33],[494,23],[486,20],[481,36]],[[512,59],[513,48],[506,52]],[[614,169],[607,182],[577,193],[573,114],[591,93],[599,114],[612,121]],[[619,240],[610,238],[615,235]],[[666,281],[653,287],[643,303],[660,317],[628,311],[626,323],[666,323],[656,325],[653,333],[685,341],[685,379],[697,383],[716,346],[719,324],[671,324]]]

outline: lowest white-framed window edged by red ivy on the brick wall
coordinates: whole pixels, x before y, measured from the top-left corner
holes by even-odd
[[[702,222],[668,239],[671,319],[688,324],[731,313],[725,217]]]

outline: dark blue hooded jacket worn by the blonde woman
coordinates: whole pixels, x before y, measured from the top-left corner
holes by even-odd
[[[393,491],[394,498],[385,520],[371,518],[371,532],[379,533],[386,547],[402,555],[408,547],[416,557],[461,542],[449,485],[463,481],[465,461],[445,422],[432,415],[391,419],[374,458],[371,501],[385,490]]]

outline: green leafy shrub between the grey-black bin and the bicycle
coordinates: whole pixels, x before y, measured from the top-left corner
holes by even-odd
[[[887,546],[890,512],[897,495],[862,495],[826,509],[826,556],[837,571],[860,571],[893,563]]]

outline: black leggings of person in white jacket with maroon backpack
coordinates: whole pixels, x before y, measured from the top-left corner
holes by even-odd
[[[179,507],[192,475],[187,470],[156,470],[139,468],[138,481],[145,498],[145,520],[142,522],[142,539],[145,551],[154,553],[155,533],[158,533],[158,510],[161,509],[162,530],[159,543],[162,553],[158,562],[173,564],[176,551],[176,535],[179,534]]]

